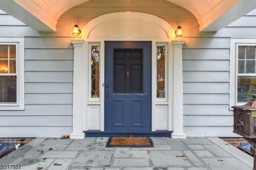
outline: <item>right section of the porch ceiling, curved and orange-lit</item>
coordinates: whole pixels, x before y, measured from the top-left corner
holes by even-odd
[[[167,0],[190,11],[200,31],[218,31],[256,8],[255,0]]]

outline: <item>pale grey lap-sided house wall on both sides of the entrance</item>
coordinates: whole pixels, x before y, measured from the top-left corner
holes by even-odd
[[[84,4],[80,11],[88,10]],[[79,17],[83,27],[95,16],[82,20],[81,12],[76,13],[75,8],[70,11],[60,17],[56,33],[36,32],[0,12],[0,36],[25,37],[25,110],[0,111],[0,137],[54,137],[72,132],[74,37],[70,28]],[[218,32],[199,32],[196,19],[186,10],[161,18],[183,28],[184,133],[238,136],[232,132],[233,113],[229,109],[230,38],[256,37],[251,22],[256,11]]]

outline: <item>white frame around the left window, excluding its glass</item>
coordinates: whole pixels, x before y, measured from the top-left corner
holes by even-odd
[[[0,37],[0,45],[16,45],[17,75],[17,101],[16,103],[0,103],[0,110],[24,110],[24,37]]]

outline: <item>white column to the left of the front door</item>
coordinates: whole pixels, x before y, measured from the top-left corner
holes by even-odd
[[[71,40],[74,46],[73,72],[73,131],[71,139],[83,139],[83,44],[84,40]]]

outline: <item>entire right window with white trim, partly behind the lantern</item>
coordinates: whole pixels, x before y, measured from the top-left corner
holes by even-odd
[[[256,93],[256,39],[230,39],[230,107],[244,105]]]

